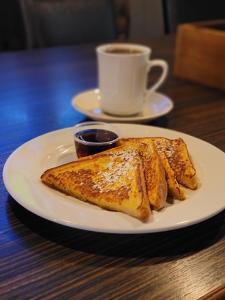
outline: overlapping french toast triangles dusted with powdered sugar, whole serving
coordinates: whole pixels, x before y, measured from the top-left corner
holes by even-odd
[[[41,181],[142,221],[165,206],[168,194],[184,200],[185,188],[198,187],[185,142],[164,137],[120,139],[112,149],[46,170]]]

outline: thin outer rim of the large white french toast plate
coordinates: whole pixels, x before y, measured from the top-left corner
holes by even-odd
[[[186,133],[183,133],[183,132],[180,132],[180,131],[177,131],[177,130],[172,130],[172,129],[168,129],[168,128],[163,128],[163,127],[158,127],[158,126],[146,126],[146,125],[141,125],[141,124],[124,124],[124,123],[117,123],[117,125],[122,125],[122,126],[129,126],[129,125],[132,125],[132,126],[144,126],[144,127],[147,127],[149,130],[152,129],[159,129],[159,130],[163,130],[163,131],[168,131],[170,133],[175,133],[175,134],[179,134],[179,135],[182,135],[182,136],[187,136],[187,137],[190,137],[192,139],[196,139],[198,141],[201,141],[203,143],[205,143],[206,145],[210,145],[210,147],[213,147],[214,149],[216,149],[217,151],[220,151],[222,153],[224,153],[222,150],[220,150],[219,148],[217,148],[216,146],[202,140],[202,139],[199,139],[199,138],[196,138],[194,136],[191,136],[189,134],[186,134]],[[92,232],[101,232],[101,233],[113,233],[113,234],[147,234],[147,233],[155,233],[155,232],[165,232],[165,231],[172,231],[172,230],[177,230],[177,229],[181,229],[181,228],[185,228],[185,227],[189,227],[189,226],[192,226],[194,224],[198,224],[198,223],[201,223],[207,219],[210,219],[212,217],[214,217],[215,215],[219,214],[221,211],[223,211],[225,209],[225,205],[224,207],[221,207],[220,209],[217,209],[216,211],[214,211],[213,213],[209,214],[209,215],[206,215],[206,216],[203,216],[201,218],[198,218],[196,220],[192,220],[192,221],[185,221],[185,222],[182,222],[182,223],[178,223],[178,224],[175,224],[174,226],[170,226],[170,227],[164,227],[164,228],[148,228],[146,227],[146,229],[138,229],[138,228],[135,228],[134,230],[114,230],[114,229],[106,229],[106,230],[103,230],[102,228],[98,228],[98,227],[93,227],[93,226],[79,226],[79,224],[71,224],[71,222],[67,222],[67,221],[64,221],[64,220],[59,220],[58,218],[53,218],[49,217],[48,214],[45,214],[43,213],[43,210],[40,212],[40,210],[37,212],[34,208],[32,208],[32,205],[30,206],[27,202],[24,203],[23,200],[21,199],[18,199],[20,197],[18,197],[15,193],[15,191],[13,191],[13,189],[9,186],[9,182],[6,178],[6,173],[7,173],[7,166],[8,164],[10,163],[11,159],[14,158],[15,155],[17,155],[18,151],[20,151],[23,147],[25,147],[27,144],[29,143],[32,143],[34,140],[37,140],[37,139],[40,139],[44,136],[48,136],[50,134],[58,134],[59,132],[63,133],[67,130],[71,130],[72,127],[67,127],[67,128],[62,128],[62,129],[58,129],[58,130],[54,130],[54,131],[50,131],[50,132],[46,132],[44,134],[41,134],[37,137],[34,137],[33,139],[31,140],[28,140],[27,142],[23,143],[22,145],[20,145],[18,148],[16,148],[10,155],[9,157],[7,158],[4,166],[3,166],[3,182],[4,182],[4,185],[6,187],[6,190],[8,191],[8,193],[13,197],[13,199],[18,202],[22,207],[24,207],[25,209],[27,209],[28,211],[34,213],[35,215],[37,216],[40,216],[46,220],[49,220],[49,221],[52,221],[52,222],[55,222],[57,224],[61,224],[61,225],[64,225],[64,226],[68,226],[68,227],[71,227],[71,228],[75,228],[75,229],[81,229],[81,230],[86,230],[86,231],[92,231]],[[188,200],[187,200],[188,201]],[[116,212],[115,212],[116,213]]]

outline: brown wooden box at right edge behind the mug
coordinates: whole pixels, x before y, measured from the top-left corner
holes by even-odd
[[[178,27],[174,74],[225,90],[225,20]]]

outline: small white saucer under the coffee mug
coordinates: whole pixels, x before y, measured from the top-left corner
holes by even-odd
[[[97,121],[144,123],[168,114],[173,109],[173,101],[167,96],[153,92],[138,115],[129,117],[113,116],[101,110],[101,97],[98,89],[75,95],[72,106],[89,118]]]

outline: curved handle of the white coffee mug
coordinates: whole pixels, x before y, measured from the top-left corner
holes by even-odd
[[[147,89],[147,91],[146,91],[147,95],[149,93],[151,93],[151,92],[156,91],[160,87],[160,85],[165,81],[165,79],[166,79],[166,77],[168,75],[169,66],[168,66],[168,63],[165,60],[162,60],[162,59],[153,59],[153,60],[150,60],[148,62],[148,72],[151,71],[151,68],[155,67],[155,66],[162,68],[162,74],[159,77],[159,79],[157,80],[157,82],[155,84],[153,84],[152,87],[150,87],[149,89]]]

